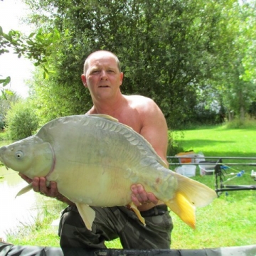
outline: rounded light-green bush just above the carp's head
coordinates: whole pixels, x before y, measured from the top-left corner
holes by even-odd
[[[16,102],[6,115],[9,139],[18,140],[30,137],[38,129],[38,117],[27,102]]]

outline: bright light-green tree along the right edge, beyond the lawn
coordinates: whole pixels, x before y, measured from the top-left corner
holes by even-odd
[[[215,98],[227,110],[229,119],[237,115],[242,121],[255,100],[256,67],[255,2],[223,8],[218,65],[203,90],[204,97]],[[225,16],[224,16],[225,14]],[[231,114],[232,113],[232,114]]]

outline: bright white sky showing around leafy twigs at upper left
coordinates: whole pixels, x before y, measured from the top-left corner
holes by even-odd
[[[22,16],[28,13],[26,5],[21,0],[0,1],[0,26],[4,33],[11,29],[28,34],[29,26],[23,24],[20,20]],[[18,58],[14,53],[4,53],[0,55],[0,78],[11,77],[11,84],[7,89],[11,89],[21,97],[28,97],[28,87],[24,80],[31,78],[33,64],[26,58]]]

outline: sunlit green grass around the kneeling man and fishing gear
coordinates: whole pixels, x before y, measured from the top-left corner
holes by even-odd
[[[256,156],[255,127],[248,129],[208,127],[187,130],[183,137],[178,137],[178,143],[183,146],[184,150],[202,151],[205,156]],[[238,162],[223,161],[226,163]],[[245,161],[240,161],[240,163],[245,163]],[[250,178],[250,172],[252,169],[256,171],[256,166],[233,166],[232,168],[227,171],[228,174],[242,169],[245,170],[245,174],[226,182],[227,184],[256,185],[256,181]],[[229,177],[233,176],[225,176],[225,181]],[[198,168],[196,176],[193,178],[205,183],[210,188],[215,188],[214,176],[200,176]],[[171,248],[199,249],[253,245],[256,241],[255,213],[256,191],[229,191],[227,195],[222,193],[209,206],[198,208],[196,210],[196,230],[189,228],[174,213],[171,213],[174,222]],[[58,215],[48,214],[46,210],[44,210],[44,214],[46,214],[46,218],[38,220],[41,224],[37,223],[28,227],[27,230],[22,227],[19,233],[8,236],[9,242],[16,245],[59,246],[58,235],[50,226],[51,221],[58,218]],[[119,240],[106,242],[106,245],[112,248],[122,248]]]

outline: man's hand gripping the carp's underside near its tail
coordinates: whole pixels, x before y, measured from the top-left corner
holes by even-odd
[[[154,203],[156,205],[159,200],[153,193],[147,193],[142,184],[133,184],[132,189],[132,202],[135,206],[142,206],[143,204]]]

